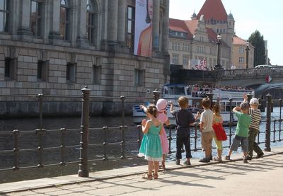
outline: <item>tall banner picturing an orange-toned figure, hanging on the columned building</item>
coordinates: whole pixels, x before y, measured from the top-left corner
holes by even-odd
[[[154,16],[153,0],[136,0],[134,26],[134,54],[151,57],[152,52],[152,18]]]

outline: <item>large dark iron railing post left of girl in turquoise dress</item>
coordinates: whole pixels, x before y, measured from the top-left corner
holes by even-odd
[[[81,147],[80,147],[80,163],[79,177],[88,177],[88,127],[89,127],[89,96],[91,90],[86,86],[81,89],[83,92],[82,110],[81,110]]]

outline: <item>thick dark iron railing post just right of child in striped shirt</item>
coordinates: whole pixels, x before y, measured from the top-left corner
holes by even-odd
[[[270,149],[271,103],[272,103],[272,96],[270,95],[270,93],[268,93],[266,95],[265,151],[271,151]]]

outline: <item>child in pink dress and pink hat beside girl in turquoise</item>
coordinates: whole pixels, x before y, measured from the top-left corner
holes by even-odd
[[[158,110],[157,119],[160,120],[160,122],[165,125],[169,125],[169,119],[166,114],[167,105],[168,105],[167,100],[163,98],[157,100],[157,103],[156,103],[156,108]],[[166,169],[165,168],[165,158],[166,158],[166,154],[168,154],[169,152],[169,144],[168,144],[167,134],[166,134],[164,127],[162,127],[162,130],[159,136],[160,136],[161,147],[162,147],[162,162],[159,168],[163,168],[165,170]]]

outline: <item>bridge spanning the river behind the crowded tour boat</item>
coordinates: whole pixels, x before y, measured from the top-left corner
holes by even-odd
[[[171,64],[171,83],[246,86],[257,95],[273,88],[282,88],[283,66],[253,69],[193,70]],[[267,77],[271,79],[267,81]]]

